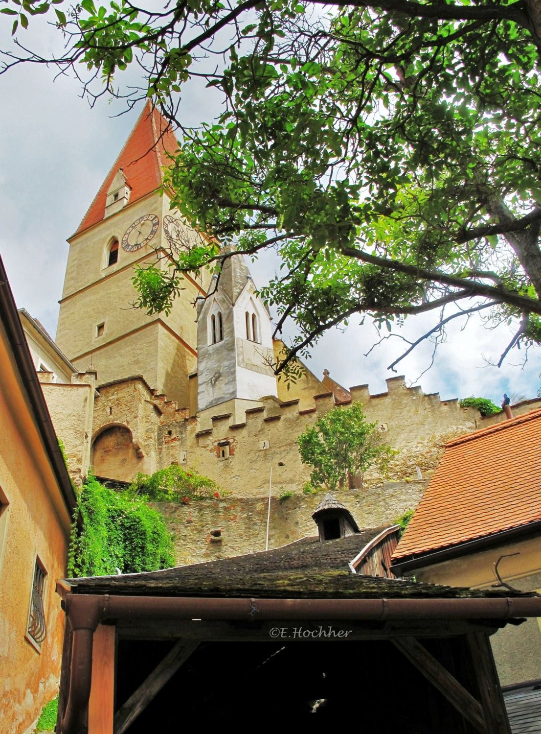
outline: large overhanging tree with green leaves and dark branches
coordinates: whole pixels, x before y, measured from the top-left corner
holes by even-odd
[[[21,8],[32,15],[50,7],[20,2],[2,8],[15,23]],[[169,310],[182,272],[216,261],[216,242],[241,239],[249,254],[279,254],[279,276],[264,295],[279,327],[282,318],[295,324],[290,357],[353,314],[394,330],[434,310],[442,333],[442,309],[467,316],[479,299],[493,306],[493,322],[516,324],[509,348],[538,344],[534,4],[330,7],[323,15],[320,4],[295,0],[194,0],[161,10],[82,0],[56,12],[70,30],[67,51],[30,58],[79,74],[82,62],[103,85],[92,92],[84,80],[90,95],[121,95],[114,75],[133,62],[144,82],[128,92],[132,101],[152,97],[181,126],[186,81],[202,79],[223,95],[216,120],[181,129],[165,182],[202,244],[172,252],[169,272],[138,272],[136,304]],[[18,63],[8,58],[7,67]]]

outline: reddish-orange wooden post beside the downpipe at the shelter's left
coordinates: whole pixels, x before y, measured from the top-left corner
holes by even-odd
[[[92,647],[88,734],[113,734],[115,628],[97,625]]]

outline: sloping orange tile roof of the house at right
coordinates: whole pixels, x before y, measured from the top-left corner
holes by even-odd
[[[541,410],[446,444],[393,560],[536,520],[541,520]]]

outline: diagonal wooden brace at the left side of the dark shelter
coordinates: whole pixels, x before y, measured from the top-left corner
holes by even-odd
[[[141,683],[141,686],[119,708],[114,717],[114,734],[124,734],[125,730],[128,729],[130,724],[133,724],[141,711],[147,708],[147,705],[149,705],[155,695],[161,691],[180,666],[188,660],[198,645],[199,640],[191,640],[189,642],[179,640],[174,645],[161,663],[158,663],[150,675]]]

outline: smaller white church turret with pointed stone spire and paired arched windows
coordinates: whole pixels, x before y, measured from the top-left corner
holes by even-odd
[[[232,413],[244,420],[247,408],[262,397],[277,396],[272,326],[265,304],[256,293],[243,255],[225,247],[221,273],[213,276],[209,295],[197,319],[197,413]]]

